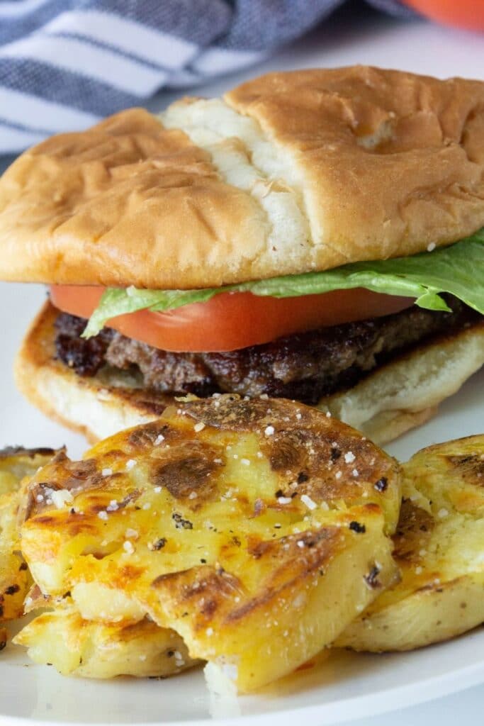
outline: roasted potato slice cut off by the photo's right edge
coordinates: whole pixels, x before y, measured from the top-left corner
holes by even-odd
[[[336,645],[411,650],[484,622],[484,436],[422,449],[403,473],[394,537],[402,580]]]

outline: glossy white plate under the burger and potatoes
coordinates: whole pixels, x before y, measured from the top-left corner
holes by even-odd
[[[36,285],[0,284],[0,446],[67,444],[78,456],[83,439],[46,420],[15,391],[12,359],[29,320],[44,298]],[[484,371],[440,409],[435,420],[403,436],[391,453],[405,459],[414,451],[456,436],[484,431]],[[256,637],[256,635],[254,635]],[[62,678],[54,669],[29,664],[12,645],[0,656],[0,723],[19,724],[195,724],[217,717],[250,726],[293,726],[355,719],[398,709],[484,682],[484,632],[414,653],[369,656],[335,652],[312,670],[300,672],[257,696],[210,703],[200,670],[170,680],[111,682]]]

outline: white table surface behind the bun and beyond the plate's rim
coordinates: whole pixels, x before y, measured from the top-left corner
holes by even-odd
[[[198,86],[194,92],[203,96],[220,94],[236,83],[269,70],[353,63],[429,73],[440,78],[467,76],[484,80],[484,35],[419,21],[403,23],[358,9],[354,3],[337,12],[303,41],[287,46],[257,67]],[[149,108],[160,110],[180,95],[179,92],[159,94],[149,103]],[[6,160],[0,158],[0,170],[5,164]],[[484,685],[481,685],[419,706],[409,703],[409,708],[398,712],[351,723],[353,726],[387,726],[388,722],[392,726],[454,726],[458,717],[466,726],[477,726],[484,722],[483,706]]]

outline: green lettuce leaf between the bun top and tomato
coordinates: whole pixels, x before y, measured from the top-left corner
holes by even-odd
[[[102,295],[83,333],[97,335],[116,315],[138,310],[163,312],[189,303],[202,303],[213,295],[227,292],[250,292],[291,298],[298,295],[327,293],[366,287],[375,293],[415,298],[428,310],[448,310],[440,293],[451,293],[466,305],[484,314],[484,228],[449,247],[411,257],[356,262],[324,272],[306,272],[268,280],[242,282],[239,285],[208,287],[203,290],[137,290],[135,287],[110,287]]]

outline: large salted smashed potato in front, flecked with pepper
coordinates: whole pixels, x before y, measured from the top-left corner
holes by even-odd
[[[399,481],[391,457],[315,409],[183,401],[41,470],[22,551],[41,590],[69,591],[84,620],[148,614],[245,691],[331,643],[393,583]]]

